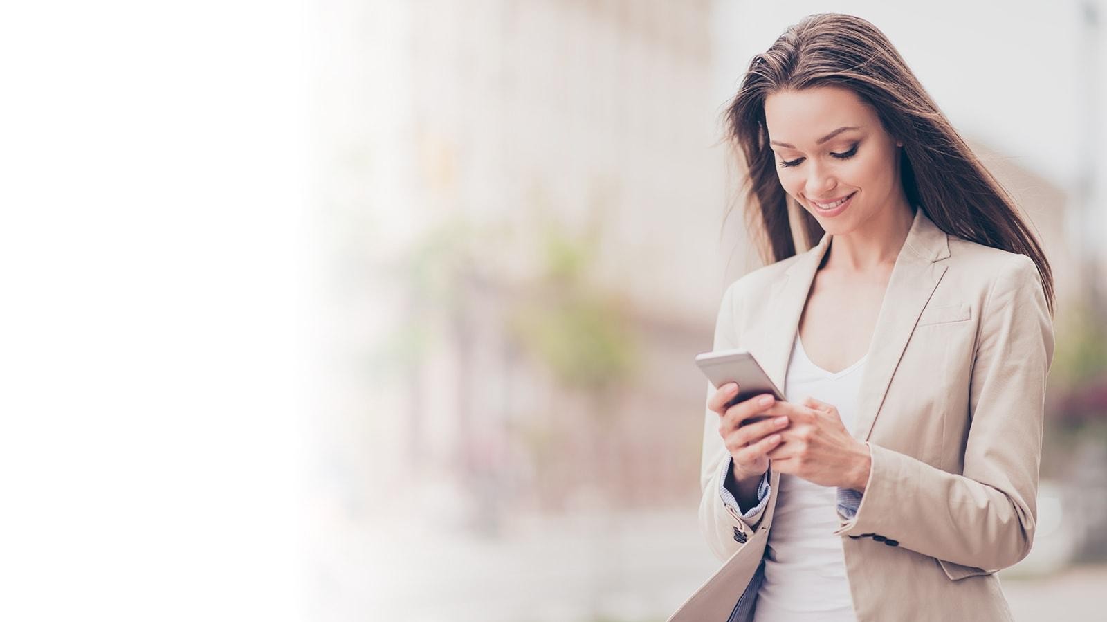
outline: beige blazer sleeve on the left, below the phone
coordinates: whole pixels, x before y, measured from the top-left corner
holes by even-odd
[[[715,320],[714,350],[738,348],[735,334],[736,308],[741,303],[735,296],[737,281],[723,293],[718,317]],[[707,398],[715,388],[707,383]],[[731,454],[718,434],[718,415],[704,404],[703,455],[700,465],[700,532],[707,547],[720,560],[725,561],[754,535],[765,510],[762,502],[745,516],[741,512],[733,495],[724,486],[730,470]],[[764,488],[767,495],[767,487]],[[730,497],[730,498],[727,498]]]

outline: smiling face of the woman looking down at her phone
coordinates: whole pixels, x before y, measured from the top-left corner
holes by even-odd
[[[765,99],[765,123],[780,185],[827,232],[848,234],[890,209],[909,208],[898,143],[852,91],[773,93]]]

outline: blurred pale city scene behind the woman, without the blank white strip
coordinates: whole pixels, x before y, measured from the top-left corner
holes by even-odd
[[[1020,619],[1097,598],[1101,2],[334,1],[315,110],[324,619],[663,620],[717,568],[692,359],[759,266],[718,117],[749,59],[824,11],[888,34],[1045,243],[1039,523],[1001,580]]]

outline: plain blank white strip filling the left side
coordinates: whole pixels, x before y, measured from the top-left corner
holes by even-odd
[[[308,17],[0,9],[0,619],[298,618]]]

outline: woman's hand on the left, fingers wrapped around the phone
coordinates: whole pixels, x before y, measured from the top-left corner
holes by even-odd
[[[756,395],[724,410],[726,403],[737,394],[737,384],[724,384],[707,401],[707,407],[720,415],[718,434],[734,458],[734,478],[742,481],[761,477],[768,469],[768,452],[780,443],[778,433],[787,427],[788,417],[769,417],[743,425],[749,417],[764,415],[774,403],[784,402],[776,402],[768,394]]]

